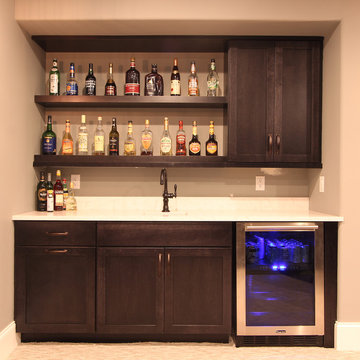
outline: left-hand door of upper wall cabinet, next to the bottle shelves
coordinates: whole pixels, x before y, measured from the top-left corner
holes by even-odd
[[[273,41],[236,41],[229,48],[230,160],[272,160],[274,58]]]

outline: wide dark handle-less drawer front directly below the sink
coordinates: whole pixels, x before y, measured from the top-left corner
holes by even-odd
[[[230,222],[101,222],[99,246],[231,246]]]

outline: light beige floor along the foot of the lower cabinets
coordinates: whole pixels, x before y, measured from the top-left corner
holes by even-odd
[[[316,347],[235,348],[233,344],[132,343],[74,344],[23,343],[9,360],[360,360],[360,352]]]

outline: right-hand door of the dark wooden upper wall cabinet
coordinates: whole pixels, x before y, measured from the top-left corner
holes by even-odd
[[[275,162],[321,163],[321,46],[276,43]]]

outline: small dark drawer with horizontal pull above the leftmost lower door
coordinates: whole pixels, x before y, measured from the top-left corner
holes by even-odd
[[[15,245],[94,246],[96,223],[76,221],[15,221]]]

